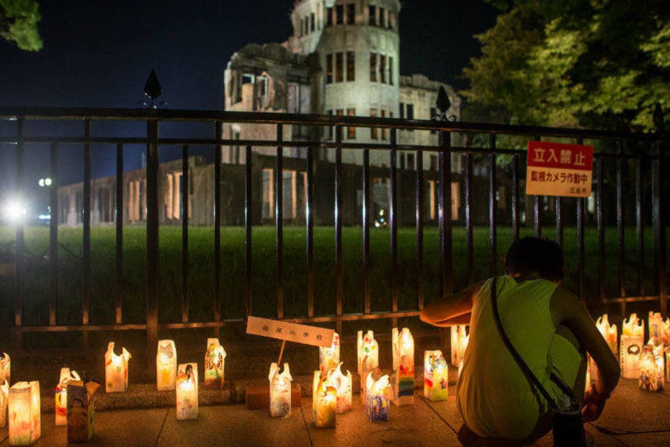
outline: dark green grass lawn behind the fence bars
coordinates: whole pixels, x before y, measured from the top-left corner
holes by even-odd
[[[533,230],[523,228],[522,235]],[[397,272],[400,309],[416,309],[416,244],[414,228],[399,228]],[[24,324],[48,323],[50,270],[48,259],[49,228],[29,227],[25,230],[27,262],[24,283]],[[465,229],[454,228],[454,285],[466,285]],[[553,229],[545,228],[544,236],[553,238]],[[576,230],[565,228],[566,284],[576,290]],[[0,228],[0,245],[14,239],[11,228]],[[512,240],[509,228],[498,228],[498,268]],[[316,314],[334,314],[334,228],[314,228],[314,287]],[[653,237],[651,228],[645,229],[644,286],[647,295],[657,293],[654,277]],[[115,247],[114,228],[91,228],[91,323],[114,322]],[[124,229],[124,323],[144,322],[145,242],[143,227]],[[160,292],[159,318],[161,322],[181,321],[181,228],[162,226],[160,230]],[[209,321],[213,301],[214,232],[211,227],[193,227],[189,230],[189,287],[191,321]],[[362,312],[362,230],[343,228],[343,296],[344,312]],[[59,228],[58,323],[80,322],[82,277],[82,229]],[[639,294],[635,230],[626,229],[626,288],[628,295]],[[592,310],[602,310],[597,304],[597,232],[586,230],[586,292]],[[244,228],[223,227],[221,230],[221,307],[223,318],[244,316],[245,259]],[[285,316],[306,314],[305,230],[302,227],[284,228],[284,294]],[[274,227],[253,229],[253,306],[254,314],[276,315]],[[389,230],[371,229],[372,297],[373,312],[389,311],[391,298]],[[438,230],[424,230],[424,285],[426,302],[438,296],[439,291]],[[489,275],[491,254],[488,229],[475,228],[475,279]],[[606,291],[618,296],[618,257],[616,228],[606,229]],[[0,325],[13,323],[13,281],[0,278]],[[657,307],[657,305],[653,305]],[[629,309],[634,309],[630,306]],[[610,310],[618,310],[612,307]]]

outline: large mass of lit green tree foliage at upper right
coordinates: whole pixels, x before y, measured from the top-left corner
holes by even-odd
[[[670,2],[489,2],[466,119],[649,131],[654,105],[670,109]]]

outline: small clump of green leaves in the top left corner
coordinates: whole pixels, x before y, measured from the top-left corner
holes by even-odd
[[[0,37],[24,51],[39,51],[43,43],[37,24],[42,19],[37,0],[0,0]]]

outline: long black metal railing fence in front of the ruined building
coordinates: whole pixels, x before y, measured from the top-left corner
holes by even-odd
[[[343,321],[366,320],[373,318],[391,318],[394,322],[397,318],[417,316],[424,306],[424,216],[420,210],[424,206],[424,168],[423,157],[425,152],[438,154],[438,227],[439,227],[439,252],[440,252],[440,283],[443,294],[452,292],[454,287],[453,266],[454,259],[452,255],[452,219],[450,217],[450,204],[452,202],[452,154],[464,155],[464,225],[466,228],[466,271],[468,282],[474,280],[472,272],[475,263],[473,226],[472,219],[472,173],[473,158],[484,156],[488,169],[489,177],[489,240],[491,247],[491,274],[497,273],[498,258],[498,236],[497,230],[499,223],[496,218],[496,177],[500,175],[500,166],[496,163],[497,159],[504,154],[511,156],[511,161],[505,168],[505,177],[511,176],[511,200],[509,208],[509,225],[512,228],[514,237],[519,237],[521,228],[521,204],[519,200],[520,172],[526,156],[525,150],[505,149],[498,147],[501,136],[505,138],[509,135],[526,136],[540,140],[543,138],[560,138],[577,143],[584,140],[589,142],[608,142],[616,144],[617,152],[597,152],[594,161],[594,182],[602,185],[604,183],[603,162],[610,160],[616,163],[616,216],[617,216],[617,237],[618,237],[618,284],[619,293],[615,297],[605,296],[605,224],[603,207],[603,188],[595,189],[595,203],[597,218],[598,235],[598,264],[597,290],[599,291],[597,300],[600,302],[620,302],[622,313],[625,310],[627,302],[639,302],[659,300],[660,309],[663,314],[667,314],[667,266],[666,266],[666,237],[665,237],[665,217],[664,200],[667,195],[667,183],[662,177],[662,170],[667,168],[667,158],[664,155],[664,141],[666,135],[663,133],[643,134],[643,133],[622,133],[609,131],[594,131],[583,129],[555,129],[531,126],[504,126],[496,124],[475,124],[475,123],[449,123],[435,121],[417,121],[406,119],[378,119],[372,117],[344,117],[332,115],[290,115],[278,113],[258,113],[258,112],[207,112],[193,110],[111,110],[111,109],[59,109],[59,108],[0,108],[0,119],[15,121],[15,136],[0,138],[0,145],[15,147],[17,154],[17,191],[22,194],[22,181],[24,177],[24,152],[27,145],[50,145],[51,171],[54,182],[57,183],[57,154],[59,145],[76,144],[83,147],[83,202],[81,206],[82,227],[83,227],[83,249],[82,249],[82,293],[81,293],[81,323],[77,325],[59,325],[57,323],[57,284],[58,277],[58,219],[50,221],[50,301],[49,301],[49,323],[48,325],[24,325],[23,324],[23,299],[24,299],[24,228],[21,225],[16,227],[16,254],[15,254],[15,295],[14,295],[14,330],[15,342],[21,343],[21,336],[24,332],[64,332],[64,331],[82,331],[84,340],[87,334],[92,330],[145,330],[147,333],[147,346],[155,346],[158,339],[159,329],[181,329],[181,328],[218,328],[227,324],[239,324],[244,318],[224,319],[221,318],[221,296],[219,285],[221,282],[221,189],[214,189],[214,294],[212,307],[214,309],[211,321],[193,322],[189,321],[188,312],[188,191],[182,191],[181,194],[181,231],[182,231],[182,287],[181,291],[181,322],[180,323],[161,323],[158,318],[158,149],[165,146],[177,146],[182,149],[182,166],[184,173],[184,188],[188,189],[188,163],[189,147],[194,145],[209,145],[214,151],[214,166],[221,166],[221,149],[225,146],[246,147],[246,188],[245,188],[245,228],[246,228],[246,315],[253,314],[253,293],[252,293],[252,267],[253,262],[269,262],[269,260],[254,261],[252,259],[251,238],[252,226],[258,224],[253,222],[253,213],[251,212],[252,196],[252,158],[251,147],[276,147],[276,173],[283,171],[283,147],[301,147],[306,149],[304,157],[306,169],[306,253],[305,262],[307,265],[306,277],[306,316],[304,318],[290,318],[292,321],[304,323],[323,323],[334,322],[338,330],[341,329]],[[70,136],[40,136],[31,137],[24,133],[24,124],[29,121],[38,120],[68,120],[81,122],[82,128],[78,135]],[[91,124],[94,122],[108,122],[117,120],[133,120],[135,122],[145,122],[147,126],[146,135],[140,138],[127,137],[94,137],[91,135]],[[159,124],[161,122],[198,122],[211,125],[214,129],[215,138],[161,138],[159,133]],[[276,126],[276,138],[273,140],[230,140],[223,138],[224,123],[244,123],[244,124],[274,124]],[[39,124],[39,123],[38,123]],[[283,126],[301,125],[301,126],[320,126],[326,128],[334,126],[334,141],[292,141],[283,140]],[[385,128],[389,131],[389,141],[378,143],[362,142],[344,142],[343,129],[355,126],[361,128]],[[414,129],[424,131],[437,131],[439,133],[438,146],[422,145],[400,145],[398,143],[398,131],[401,129]],[[460,135],[486,135],[488,143],[484,147],[452,147],[452,133]],[[89,323],[89,297],[91,285],[91,145],[108,145],[110,149],[116,150],[116,198],[115,198],[115,222],[116,222],[116,279],[117,288],[115,291],[115,318],[114,323],[105,325],[96,325]],[[142,324],[124,323],[124,314],[122,309],[122,284],[123,284],[123,238],[124,238],[124,145],[146,145],[147,163],[147,258],[146,258],[146,322]],[[623,151],[623,145],[632,145],[636,148],[634,151]],[[313,163],[315,151],[324,148],[331,148],[335,151],[334,160],[334,237],[335,237],[335,314],[317,315],[315,314],[314,303],[314,254],[313,254],[313,217],[311,210],[314,201],[314,177]],[[373,149],[382,149],[388,152],[389,162],[389,249],[391,256],[390,266],[390,303],[391,312],[375,313],[371,312],[371,256],[370,256],[370,228],[373,223],[371,216],[371,176],[370,176],[370,151]],[[343,262],[342,262],[342,152],[343,150],[355,150],[363,152],[362,165],[362,270],[364,281],[361,284],[363,288],[363,312],[357,314],[343,313]],[[399,310],[397,294],[397,275],[398,269],[398,219],[396,217],[396,203],[398,200],[398,191],[396,188],[398,167],[396,156],[399,151],[412,151],[416,154],[415,169],[415,207],[416,207],[416,249],[417,249],[417,278],[416,278],[416,306],[409,311]],[[653,221],[653,240],[655,256],[655,281],[657,281],[657,295],[646,295],[641,287],[639,296],[627,296],[625,290],[625,179],[624,163],[634,163],[636,172],[636,182],[634,184],[635,210],[636,210],[636,244],[640,256],[643,256],[643,230],[645,219],[648,221],[645,203],[652,204],[651,221]],[[650,163],[650,200],[643,197],[643,163]],[[646,165],[648,166],[648,165]],[[276,224],[276,318],[285,318],[284,314],[284,293],[283,278],[285,263],[283,260],[283,200],[282,200],[282,176],[274,176],[276,193],[274,195],[274,219]],[[221,169],[214,170],[214,184],[221,184]],[[552,199],[553,200],[553,199]],[[563,244],[563,229],[565,226],[565,212],[563,199],[556,198],[553,204],[556,239]],[[50,193],[50,207],[52,213],[58,210],[57,189],[54,187]],[[534,198],[533,226],[535,234],[542,234],[541,219],[542,210],[539,197]],[[585,297],[586,268],[585,268],[585,207],[586,201],[583,198],[576,199],[576,235],[578,252],[578,272],[579,285],[578,293],[581,298]],[[546,225],[546,219],[544,221]],[[505,223],[507,225],[507,223]],[[639,274],[643,275],[643,265],[639,267]],[[241,317],[241,316],[240,316]]]

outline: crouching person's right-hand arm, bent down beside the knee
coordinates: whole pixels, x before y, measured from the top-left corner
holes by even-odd
[[[558,286],[551,296],[551,316],[556,325],[565,325],[572,331],[598,367],[595,386],[590,387],[584,397],[584,418],[595,420],[619,381],[619,362],[596,328],[586,306],[567,288]]]

